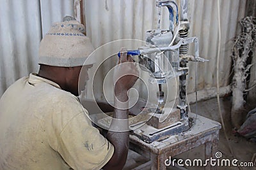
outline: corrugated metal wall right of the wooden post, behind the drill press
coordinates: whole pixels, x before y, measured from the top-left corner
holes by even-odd
[[[219,41],[221,41],[220,87],[227,86],[230,83],[232,38],[236,36],[237,21],[244,17],[246,1],[220,0],[221,40],[218,39],[217,1],[189,0],[188,3],[189,36],[199,38],[200,56],[210,60],[197,64],[198,90],[216,87],[216,58]],[[87,35],[92,39],[95,48],[116,39],[144,40],[145,32],[157,27],[155,0],[84,0],[84,4]],[[167,9],[162,10],[162,20],[161,26],[165,29],[168,28]],[[193,46],[189,48],[193,52]],[[118,52],[119,49],[112,50]],[[188,93],[195,91],[195,63],[189,64],[189,71]],[[102,80],[104,80],[104,76],[105,74],[102,73]],[[102,89],[100,86],[98,88]],[[173,86],[168,89],[172,91],[172,88]],[[109,95],[111,93],[109,92]],[[170,94],[175,96],[173,93]]]

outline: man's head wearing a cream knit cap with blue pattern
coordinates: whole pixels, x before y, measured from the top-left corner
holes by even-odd
[[[39,76],[58,83],[61,89],[78,96],[78,80],[81,68],[94,48],[83,34],[84,25],[72,17],[57,22],[44,36],[39,48]],[[86,68],[93,60],[86,60]],[[87,69],[83,69],[83,80],[88,80]],[[82,81],[83,81],[82,80]]]

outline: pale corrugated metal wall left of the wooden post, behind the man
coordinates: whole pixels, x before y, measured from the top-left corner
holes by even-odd
[[[74,0],[0,0],[0,96],[38,71],[38,47],[52,22],[74,15]]]

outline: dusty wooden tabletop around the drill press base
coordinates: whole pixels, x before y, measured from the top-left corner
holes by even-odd
[[[195,123],[186,132],[173,135],[170,138],[164,139],[163,141],[154,141],[150,144],[141,141],[141,139],[134,135],[130,135],[130,143],[157,155],[166,152],[166,150],[172,150],[172,155],[177,155],[185,152],[184,150],[189,150],[191,148],[195,148],[196,146],[202,145],[202,143],[211,141],[211,134],[216,131],[220,131],[221,129],[221,124],[219,122],[210,120],[209,118],[195,115],[193,113],[190,113],[189,117],[194,118]],[[182,148],[185,146],[186,148]],[[175,150],[177,153],[173,153]]]

